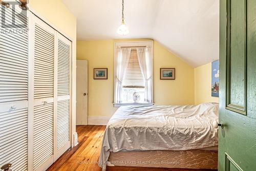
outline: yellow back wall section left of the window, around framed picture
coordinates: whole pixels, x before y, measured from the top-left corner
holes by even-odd
[[[113,107],[114,41],[77,41],[77,59],[88,60],[88,115],[111,116]],[[108,79],[93,79],[93,68],[108,68]]]

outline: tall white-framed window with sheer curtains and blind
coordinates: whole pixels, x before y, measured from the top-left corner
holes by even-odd
[[[114,104],[153,104],[152,41],[115,43]]]

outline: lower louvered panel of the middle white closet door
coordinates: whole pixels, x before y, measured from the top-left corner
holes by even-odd
[[[53,103],[34,107],[33,168],[53,155]]]

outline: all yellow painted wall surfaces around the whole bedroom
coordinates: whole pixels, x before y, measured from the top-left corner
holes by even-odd
[[[30,0],[29,7],[73,40],[73,68],[76,66],[76,56],[77,59],[88,60],[89,116],[111,116],[117,109],[113,107],[114,41],[125,40],[76,42],[76,17],[61,0],[51,1],[51,5],[41,0]],[[93,68],[97,67],[109,69],[108,80],[93,79]],[[176,68],[176,80],[160,80],[160,68]],[[73,88],[76,87],[75,74],[74,70],[72,78]],[[193,69],[172,54],[172,52],[154,41],[154,102],[156,104],[218,102],[218,98],[211,97],[210,87],[210,63]],[[75,90],[72,92],[73,100],[75,100]],[[75,113],[74,106],[73,113]],[[75,122],[75,119],[73,119],[73,122]]]

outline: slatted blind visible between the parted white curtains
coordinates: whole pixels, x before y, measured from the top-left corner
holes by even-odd
[[[132,49],[127,69],[123,78],[123,88],[144,88],[145,81],[142,75],[137,50]]]

